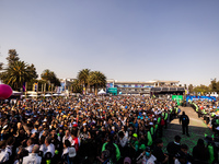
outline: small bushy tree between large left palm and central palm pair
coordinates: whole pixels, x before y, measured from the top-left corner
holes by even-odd
[[[41,78],[45,81],[47,81],[48,84],[54,84],[55,86],[60,86],[60,81],[59,79],[56,77],[56,74],[46,69],[43,71],[43,73],[41,74]]]

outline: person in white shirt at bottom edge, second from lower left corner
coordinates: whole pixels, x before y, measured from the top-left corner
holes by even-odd
[[[33,147],[33,150],[32,150],[32,153],[28,154],[28,156],[25,156],[23,157],[23,164],[41,164],[42,163],[42,157],[38,156],[38,150],[39,150],[39,147],[38,144],[35,144]]]

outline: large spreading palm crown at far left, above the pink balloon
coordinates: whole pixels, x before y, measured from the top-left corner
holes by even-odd
[[[31,81],[36,78],[36,72],[28,69],[28,65],[24,61],[14,61],[10,65],[5,71],[2,73],[1,78],[5,84],[12,86],[13,90],[20,90],[23,82]]]

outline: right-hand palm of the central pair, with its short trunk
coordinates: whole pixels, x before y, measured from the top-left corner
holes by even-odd
[[[99,87],[105,87],[106,77],[100,71],[93,71],[89,75],[90,85],[94,86],[94,93],[97,95]]]

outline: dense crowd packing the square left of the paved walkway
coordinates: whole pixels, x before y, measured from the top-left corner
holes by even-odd
[[[163,153],[163,130],[178,113],[172,99],[145,96],[2,101],[0,163],[207,164],[201,139],[193,155],[180,136]]]

